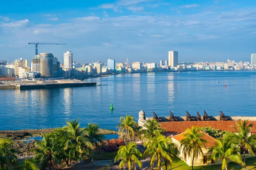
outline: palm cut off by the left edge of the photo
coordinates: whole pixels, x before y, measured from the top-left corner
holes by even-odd
[[[0,139],[0,167],[8,167],[8,164],[17,163],[17,157],[15,153],[18,153],[18,150],[12,148],[13,140],[10,138]]]

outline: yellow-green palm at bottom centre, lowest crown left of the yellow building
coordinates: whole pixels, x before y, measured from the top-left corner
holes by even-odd
[[[115,161],[122,160],[119,163],[119,169],[124,168],[125,170],[125,166],[128,165],[129,170],[136,170],[136,164],[138,164],[139,167],[142,167],[142,163],[138,159],[142,156],[143,155],[140,153],[140,150],[137,149],[136,144],[134,142],[128,142],[127,145],[119,147]]]

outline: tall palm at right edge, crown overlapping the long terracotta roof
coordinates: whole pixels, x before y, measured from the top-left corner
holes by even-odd
[[[245,150],[248,150],[254,156],[252,147],[256,147],[256,134],[250,135],[253,124],[248,123],[247,120],[238,121],[236,125],[237,127],[233,126],[235,133],[230,133],[230,137],[244,150],[244,170],[246,170]]]

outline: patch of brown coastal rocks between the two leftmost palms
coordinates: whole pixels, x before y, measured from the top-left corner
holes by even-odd
[[[35,156],[35,154],[31,152],[31,150],[34,148],[35,142],[37,141],[24,143],[21,140],[15,140],[13,147],[20,151],[19,153],[16,154],[17,158],[25,159]]]

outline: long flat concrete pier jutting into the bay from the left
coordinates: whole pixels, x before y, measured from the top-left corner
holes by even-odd
[[[10,80],[0,81],[0,89],[46,89],[46,88],[67,88],[95,86],[96,82],[84,82],[77,79],[58,79],[58,80]]]

